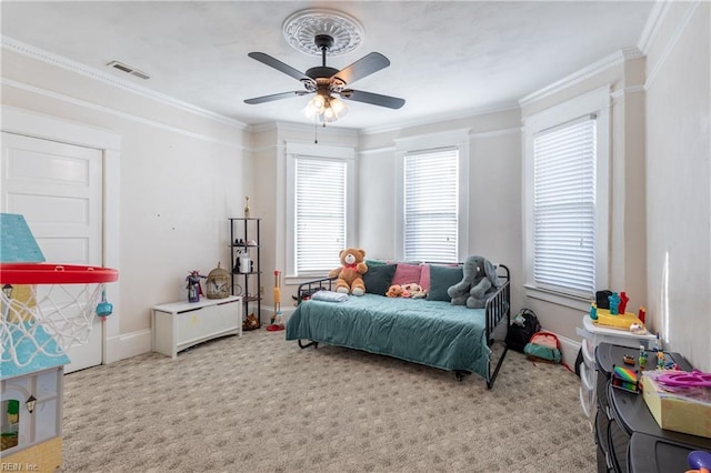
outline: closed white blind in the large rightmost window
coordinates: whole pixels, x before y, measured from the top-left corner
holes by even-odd
[[[533,137],[533,275],[573,295],[595,291],[595,119]]]

